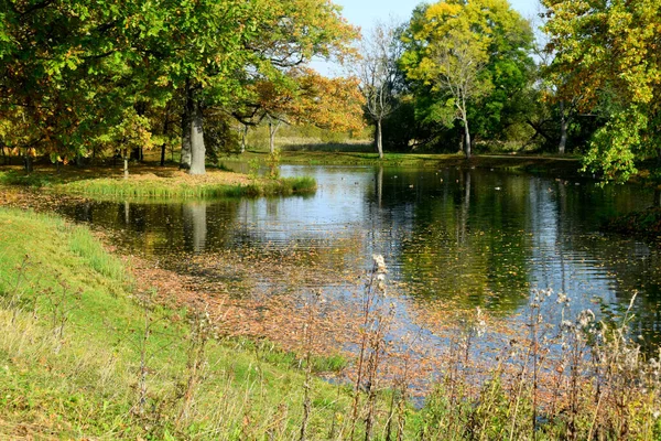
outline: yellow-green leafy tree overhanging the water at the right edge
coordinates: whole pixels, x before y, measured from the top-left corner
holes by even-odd
[[[661,51],[658,0],[543,0],[550,78],[556,99],[606,119],[584,158],[585,169],[626,181],[636,161],[661,152]]]

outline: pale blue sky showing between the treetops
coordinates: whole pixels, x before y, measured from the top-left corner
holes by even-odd
[[[343,7],[342,14],[349,23],[360,26],[362,32],[368,32],[375,22],[387,22],[390,17],[397,21],[407,21],[418,4],[433,3],[434,0],[333,0],[333,2]],[[525,19],[532,18],[538,11],[539,0],[509,0],[509,2]],[[324,62],[313,62],[313,67],[326,75],[340,74],[336,66]]]

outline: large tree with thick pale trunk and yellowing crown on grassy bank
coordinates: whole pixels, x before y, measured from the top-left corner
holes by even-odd
[[[189,126],[192,174],[204,173],[204,109],[228,107],[247,85],[278,80],[282,71],[313,56],[342,57],[355,36],[339,9],[325,0],[251,0],[185,3],[173,26],[184,50],[171,52],[177,66],[170,82],[185,93],[183,123]],[[187,30],[191,29],[188,32]],[[180,46],[180,44],[176,44]],[[188,130],[182,144],[187,146]],[[184,149],[185,150],[185,149]]]

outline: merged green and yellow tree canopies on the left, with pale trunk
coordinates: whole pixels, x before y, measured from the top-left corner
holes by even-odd
[[[192,173],[204,173],[206,109],[231,115],[251,85],[313,56],[347,56],[357,36],[326,0],[3,3],[0,116],[30,130],[3,130],[2,142],[88,154],[131,126],[127,116],[170,105]]]

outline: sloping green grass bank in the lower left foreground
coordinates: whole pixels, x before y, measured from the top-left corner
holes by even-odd
[[[307,358],[216,336],[205,314],[149,301],[84,227],[7,208],[0,226],[0,438],[281,440],[303,426],[312,439],[347,430],[348,391],[306,379]],[[310,359],[312,372],[338,366]]]

